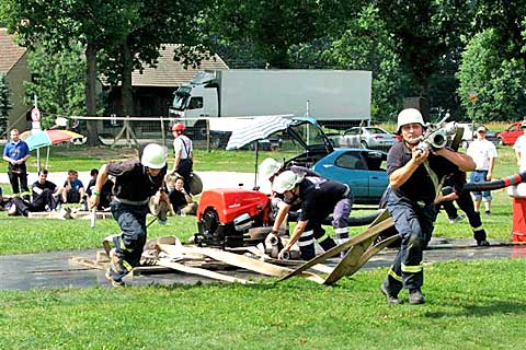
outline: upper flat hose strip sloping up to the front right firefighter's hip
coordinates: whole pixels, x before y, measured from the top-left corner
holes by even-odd
[[[289,279],[290,277],[298,276],[302,271],[311,268],[312,266],[315,266],[317,264],[320,264],[322,261],[325,261],[327,259],[329,259],[329,258],[331,258],[331,257],[351,248],[352,246],[358,244],[359,242],[363,242],[363,241],[368,240],[370,237],[376,237],[379,233],[381,233],[382,231],[392,226],[392,224],[393,224],[392,219],[388,219],[388,217],[386,219],[386,215],[384,215],[384,212],[380,213],[378,215],[378,219],[374,223],[371,223],[371,225],[373,225],[371,228],[368,228],[364,232],[351,237],[347,242],[342,243],[342,244],[335,246],[334,248],[329,249],[329,250],[318,255],[313,259],[305,262],[304,265],[301,265],[296,270],[294,270],[290,273],[288,273],[287,276],[283,277],[282,280],[286,280],[286,279]]]

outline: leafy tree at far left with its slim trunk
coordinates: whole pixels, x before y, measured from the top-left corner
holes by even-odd
[[[20,44],[30,48],[45,42],[57,49],[71,42],[84,45],[87,61],[85,110],[96,115],[96,55],[102,47],[121,40],[125,0],[3,0],[0,19]],[[98,144],[96,122],[88,121],[88,144]]]

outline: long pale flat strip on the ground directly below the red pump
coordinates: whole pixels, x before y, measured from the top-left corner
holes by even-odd
[[[213,259],[216,259],[218,261],[224,261],[226,264],[237,266],[239,268],[243,268],[247,270],[251,270],[258,273],[266,275],[266,276],[273,276],[273,277],[283,277],[293,270],[289,268],[285,268],[282,266],[276,266],[273,264],[255,260],[252,258],[249,258],[243,255],[235,254],[235,253],[229,253],[220,249],[214,249],[214,248],[199,248],[199,247],[187,247],[183,246],[181,247],[173,247],[173,246],[168,246],[164,244],[159,244],[159,248],[162,252],[165,252],[170,255],[170,250],[172,252],[178,252],[182,250],[183,253],[197,253],[197,254],[203,254],[206,255],[207,257],[210,257]],[[301,273],[305,278],[315,281],[317,283],[323,283],[323,279],[319,277],[316,273],[311,272],[302,272]]]

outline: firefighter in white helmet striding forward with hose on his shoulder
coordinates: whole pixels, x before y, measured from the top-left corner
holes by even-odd
[[[401,246],[381,292],[389,303],[400,303],[402,288],[409,290],[410,304],[422,304],[424,282],[422,250],[431,240],[436,219],[435,199],[444,177],[460,170],[474,168],[470,156],[442,148],[418,148],[424,132],[422,114],[415,108],[403,109],[398,115],[398,133],[402,140],[396,143],[387,156],[387,173],[391,191],[387,208],[401,237]]]

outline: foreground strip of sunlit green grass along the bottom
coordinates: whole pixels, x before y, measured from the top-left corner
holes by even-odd
[[[526,260],[426,267],[427,303],[386,305],[386,269],[338,287],[0,292],[2,349],[524,349]],[[407,294],[402,294],[407,300]]]

